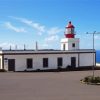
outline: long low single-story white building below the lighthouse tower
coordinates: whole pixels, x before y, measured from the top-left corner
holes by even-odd
[[[93,66],[93,50],[33,51],[3,50],[0,52],[0,69],[8,71],[47,70]],[[94,60],[95,64],[95,60]]]

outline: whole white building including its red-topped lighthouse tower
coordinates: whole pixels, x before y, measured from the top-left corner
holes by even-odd
[[[92,49],[79,49],[79,38],[75,38],[74,26],[69,22],[65,38],[61,39],[61,50],[1,50],[0,69],[34,71],[92,67],[96,63],[95,56]]]

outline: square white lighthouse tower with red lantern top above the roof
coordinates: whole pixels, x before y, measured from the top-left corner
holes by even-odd
[[[78,50],[79,38],[75,38],[75,27],[71,21],[65,27],[65,38],[61,39],[61,50]]]

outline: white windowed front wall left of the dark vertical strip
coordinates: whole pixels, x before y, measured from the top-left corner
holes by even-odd
[[[71,65],[71,57],[76,57],[76,67],[78,67],[78,54],[34,54],[34,55],[5,55],[5,58],[15,59],[15,71],[24,71],[27,69],[26,59],[33,59],[33,68],[27,70],[36,70],[36,69],[57,69],[57,58],[63,58],[62,68]],[[43,58],[48,58],[48,67],[43,68]],[[7,64],[4,64],[5,69],[8,69]]]

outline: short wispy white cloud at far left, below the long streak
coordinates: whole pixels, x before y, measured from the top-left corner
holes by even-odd
[[[8,29],[15,31],[15,32],[26,32],[24,28],[17,28],[15,26],[13,26],[10,22],[6,22],[4,24]]]

